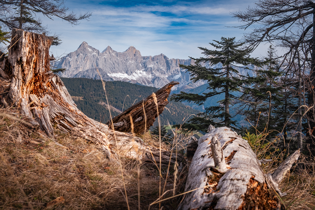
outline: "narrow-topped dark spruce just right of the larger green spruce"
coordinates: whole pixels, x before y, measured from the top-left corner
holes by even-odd
[[[270,45],[267,56],[264,57],[263,67],[255,70],[256,76],[264,79],[248,88],[242,97],[246,104],[242,114],[250,124],[247,128],[250,133],[268,133],[269,130],[278,129],[275,127],[279,121],[275,110],[281,104],[283,95],[280,92],[283,87],[279,84],[282,73],[275,53],[275,49]]]

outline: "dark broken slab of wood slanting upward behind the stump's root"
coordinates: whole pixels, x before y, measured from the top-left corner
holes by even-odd
[[[114,129],[120,132],[131,132],[130,115],[133,119],[134,132],[144,133],[145,129],[150,128],[157,118],[157,107],[154,102],[154,97],[157,99],[158,114],[160,115],[164,107],[169,103],[167,98],[171,92],[171,88],[179,82],[172,81],[159,89],[154,94],[148,96],[146,99],[131,106],[129,109],[123,111],[120,115],[113,118]],[[111,122],[106,125],[111,127]]]

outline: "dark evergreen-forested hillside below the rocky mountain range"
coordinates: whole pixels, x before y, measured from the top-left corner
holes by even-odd
[[[110,120],[106,104],[105,92],[100,80],[86,78],[61,78],[69,94],[74,99],[79,110],[92,119],[106,123]],[[129,82],[106,82],[106,91],[109,104],[117,110],[111,109],[112,116],[117,116],[121,111],[128,109],[133,104],[145,99],[158,89],[148,86],[132,84]],[[102,105],[104,104],[104,105]],[[161,117],[161,125],[169,123],[180,124],[191,114],[200,111],[180,102],[170,101]],[[154,123],[157,126],[157,121]]]

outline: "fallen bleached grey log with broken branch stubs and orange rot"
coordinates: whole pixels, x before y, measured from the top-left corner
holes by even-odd
[[[201,189],[187,193],[178,210],[284,209],[278,184],[299,155],[296,150],[264,174],[246,140],[230,128],[215,128],[198,140],[187,176],[185,191]]]

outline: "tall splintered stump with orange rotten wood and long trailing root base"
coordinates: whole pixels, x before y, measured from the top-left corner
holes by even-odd
[[[49,47],[52,41],[41,34],[12,30],[8,58],[3,65],[0,63],[3,69],[0,71],[0,85],[9,84],[9,87],[1,87],[9,89],[9,94],[2,92],[2,100],[10,99],[32,127],[40,127],[51,138],[54,138],[54,129],[57,128],[70,132],[74,137],[101,144],[111,159],[117,159],[113,150],[117,146],[117,152],[128,158],[153,161],[154,156],[158,162],[158,149],[145,145],[142,139],[132,134],[113,131],[77,109],[63,82],[50,71]],[[168,164],[169,156],[169,151],[162,150],[162,163]],[[175,162],[175,156],[171,162]]]

